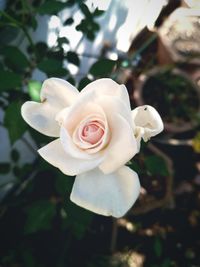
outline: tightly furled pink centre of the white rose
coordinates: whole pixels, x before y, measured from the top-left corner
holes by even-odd
[[[98,122],[90,122],[86,124],[81,133],[81,138],[92,145],[98,143],[104,135],[104,129]]]

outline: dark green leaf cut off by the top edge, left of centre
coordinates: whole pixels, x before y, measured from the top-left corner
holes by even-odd
[[[37,9],[40,15],[54,15],[63,10],[66,7],[66,4],[59,1],[45,1],[40,7]]]

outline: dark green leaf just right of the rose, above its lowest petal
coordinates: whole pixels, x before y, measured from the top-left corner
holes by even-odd
[[[144,164],[151,175],[167,176],[169,174],[164,159],[159,156],[147,157],[144,161]]]

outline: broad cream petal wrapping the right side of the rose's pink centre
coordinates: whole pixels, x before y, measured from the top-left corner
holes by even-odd
[[[121,115],[110,114],[108,123],[112,136],[99,166],[104,173],[116,171],[138,152],[133,129]]]

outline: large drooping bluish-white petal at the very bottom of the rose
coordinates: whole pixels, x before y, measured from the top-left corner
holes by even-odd
[[[122,217],[140,192],[137,173],[123,166],[111,174],[95,169],[76,177],[71,201],[95,213]]]

